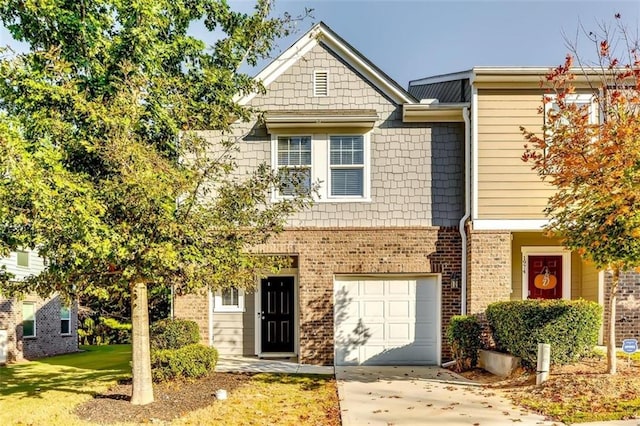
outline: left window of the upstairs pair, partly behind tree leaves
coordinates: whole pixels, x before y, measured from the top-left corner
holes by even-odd
[[[278,137],[280,195],[304,193],[311,188],[311,136]]]

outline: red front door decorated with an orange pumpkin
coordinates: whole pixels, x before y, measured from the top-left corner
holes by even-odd
[[[529,299],[562,298],[562,256],[529,256]]]

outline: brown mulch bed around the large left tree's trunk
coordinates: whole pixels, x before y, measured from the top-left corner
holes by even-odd
[[[155,402],[147,405],[132,405],[129,402],[131,380],[121,381],[78,406],[75,413],[83,420],[101,424],[170,421],[213,404],[218,389],[232,391],[249,383],[252,376],[248,373],[214,373],[198,380],[154,384]]]

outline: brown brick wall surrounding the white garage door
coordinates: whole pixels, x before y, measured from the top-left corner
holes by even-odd
[[[301,228],[285,231],[258,251],[298,256],[299,358],[330,365],[335,274],[441,274],[442,353],[449,359],[444,331],[461,308],[460,289],[451,289],[451,275],[461,271],[460,241],[457,228]],[[178,298],[174,312],[196,320],[208,342],[205,296]]]

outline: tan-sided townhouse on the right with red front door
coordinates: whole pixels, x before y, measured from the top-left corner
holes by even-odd
[[[608,304],[605,288],[610,274],[543,235],[544,209],[554,190],[521,160],[525,140],[520,126],[534,132],[543,126],[544,116],[537,111],[544,94],[540,81],[547,72],[547,68],[478,67],[409,83],[409,92],[417,98],[471,104],[466,162],[471,177],[467,188],[470,313],[482,312],[495,300],[529,297]],[[568,100],[589,105],[591,119],[597,122],[597,104],[586,81],[578,78],[575,83],[576,95]],[[547,271],[557,278],[555,287],[537,288],[535,277]],[[618,344],[640,334],[639,278],[637,273],[621,277],[615,319]]]

